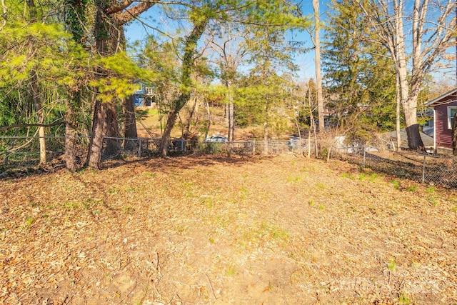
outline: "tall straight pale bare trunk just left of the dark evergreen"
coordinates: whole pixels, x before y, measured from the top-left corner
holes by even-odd
[[[325,131],[325,121],[323,118],[323,95],[322,95],[322,76],[321,76],[321,39],[319,36],[321,19],[319,16],[319,0],[313,0],[314,11],[314,57],[316,61],[316,99],[319,122],[319,134]]]

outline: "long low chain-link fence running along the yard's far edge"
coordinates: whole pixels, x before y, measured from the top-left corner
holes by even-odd
[[[59,159],[65,150],[64,136],[46,136],[49,161]],[[89,137],[79,138],[81,161],[89,145]],[[150,157],[159,153],[161,139],[154,138],[104,138],[102,161],[123,156]],[[317,148],[317,152],[316,152]],[[433,154],[395,152],[379,146],[348,146],[335,141],[301,139],[288,141],[233,141],[201,142],[171,139],[170,154],[200,151],[203,153],[253,154],[303,154],[318,158],[341,159],[361,168],[410,179],[426,184],[457,187],[457,159]],[[328,152],[330,151],[330,152]],[[21,169],[39,164],[39,136],[0,136],[0,176],[10,169]]]

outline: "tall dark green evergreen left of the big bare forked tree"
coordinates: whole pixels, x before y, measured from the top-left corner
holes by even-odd
[[[329,106],[349,138],[366,140],[371,132],[393,129],[396,78],[388,49],[373,43],[376,33],[354,1],[333,1],[329,11],[323,47]]]

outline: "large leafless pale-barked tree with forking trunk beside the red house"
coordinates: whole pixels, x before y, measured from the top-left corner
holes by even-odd
[[[453,16],[456,1],[441,4],[414,0],[408,4],[403,0],[369,0],[368,5],[358,3],[366,16],[367,26],[376,31],[377,41],[388,48],[395,62],[408,146],[422,150],[417,124],[418,95],[424,77],[451,46],[456,35],[456,18]],[[410,30],[411,36],[408,36]],[[407,46],[406,42],[410,40],[411,46]],[[410,50],[411,53],[407,54]],[[409,63],[408,58],[411,58]]]

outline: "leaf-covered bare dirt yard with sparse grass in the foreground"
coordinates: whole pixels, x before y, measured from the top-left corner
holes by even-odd
[[[457,192],[296,156],[0,181],[0,304],[457,304]]]

